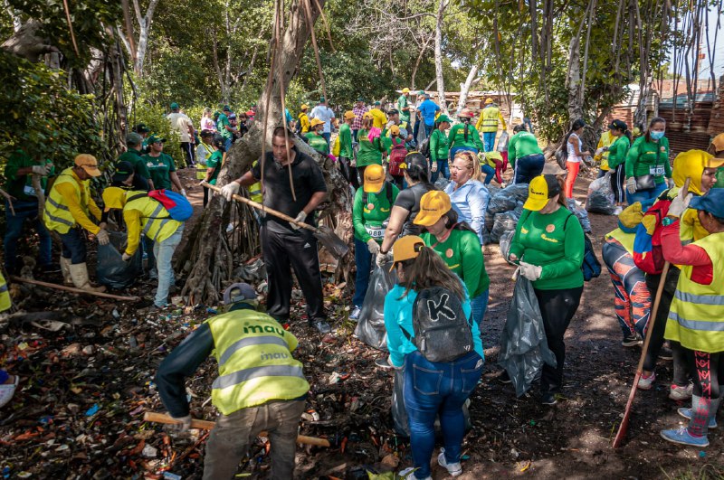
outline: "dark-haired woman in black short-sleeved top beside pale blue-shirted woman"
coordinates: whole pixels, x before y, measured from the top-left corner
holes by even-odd
[[[389,250],[397,237],[405,235],[418,235],[422,229],[414,224],[415,217],[420,212],[420,200],[424,193],[435,190],[430,183],[430,165],[427,158],[419,152],[410,152],[405,156],[405,184],[407,188],[397,195],[395,204],[390,212],[390,220],[385,229],[385,239],[382,240],[376,263],[383,266],[390,259]]]

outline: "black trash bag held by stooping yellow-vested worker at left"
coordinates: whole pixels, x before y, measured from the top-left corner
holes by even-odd
[[[128,288],[136,283],[136,279],[143,273],[143,254],[138,248],[129,261],[123,261],[119,251],[125,249],[127,235],[120,231],[110,231],[109,238],[108,245],[98,246],[96,278],[100,285],[109,288]]]

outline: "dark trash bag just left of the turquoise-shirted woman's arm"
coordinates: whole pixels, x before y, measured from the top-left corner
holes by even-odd
[[[385,296],[395,286],[395,270],[390,272],[390,263],[384,267],[377,267],[369,277],[369,286],[359,320],[355,328],[355,335],[359,340],[376,348],[387,351],[387,330],[385,328]]]

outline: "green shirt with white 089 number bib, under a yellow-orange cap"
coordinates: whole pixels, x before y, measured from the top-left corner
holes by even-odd
[[[392,188],[392,202],[387,202],[387,192],[383,189],[379,194],[367,193],[367,203],[365,203],[363,189],[357,189],[355,202],[352,205],[352,226],[357,240],[367,243],[374,236],[377,242],[382,243],[385,236],[382,224],[390,218],[392,205],[395,203],[397,193],[400,193],[395,184],[386,182],[385,188]]]

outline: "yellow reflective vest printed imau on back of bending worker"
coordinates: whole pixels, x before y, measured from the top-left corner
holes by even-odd
[[[224,415],[272,400],[299,399],[310,390],[297,338],[269,315],[235,310],[206,320],[214,337],[219,376],[211,399]]]

